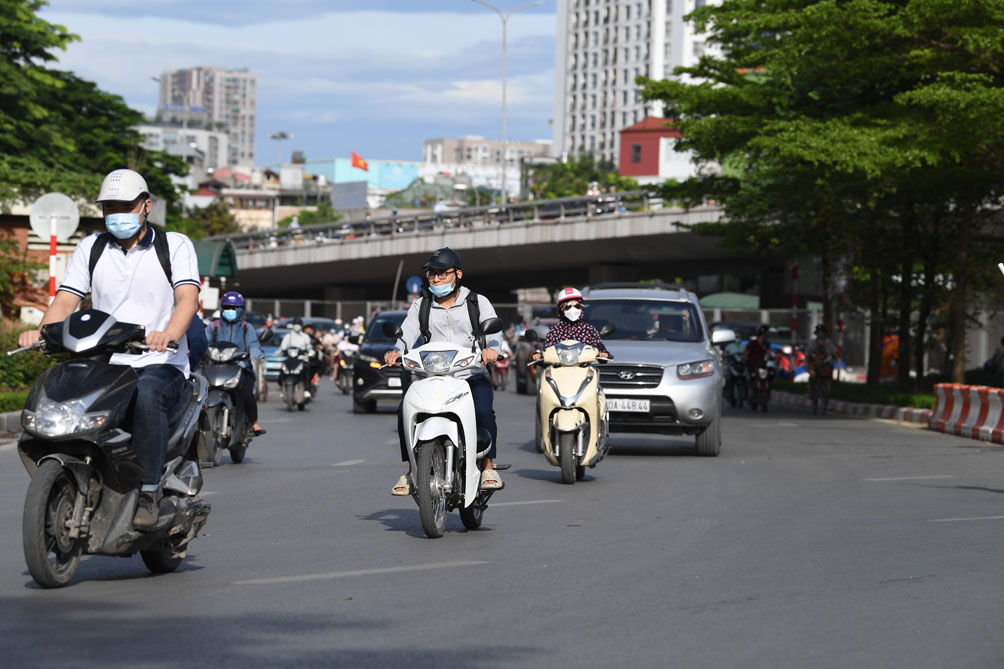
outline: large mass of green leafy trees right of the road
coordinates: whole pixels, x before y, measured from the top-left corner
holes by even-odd
[[[901,368],[911,334],[922,352],[950,309],[961,379],[967,296],[992,268],[1004,196],[1004,4],[729,0],[691,18],[721,55],[641,83],[678,149],[726,169],[668,196],[722,202],[713,229],[734,244],[818,253],[824,279],[845,267],[872,346],[900,329]]]

